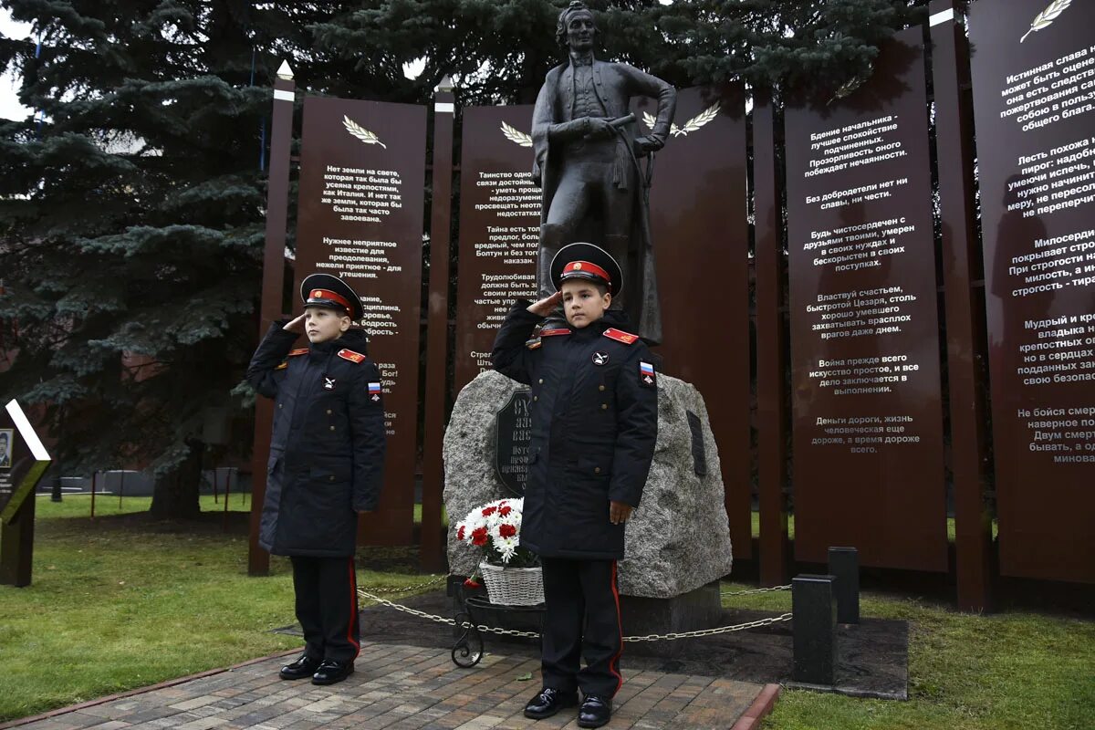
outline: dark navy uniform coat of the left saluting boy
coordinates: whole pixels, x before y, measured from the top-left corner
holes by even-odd
[[[274,398],[274,436],[258,544],[274,555],[354,554],[357,512],[376,508],[384,465],[380,372],[366,336],[292,350],[275,322],[247,367],[247,382]]]

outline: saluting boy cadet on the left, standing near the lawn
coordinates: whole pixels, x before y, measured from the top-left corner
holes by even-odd
[[[366,335],[350,329],[358,296],[327,274],[307,277],[300,296],[304,313],[274,323],[247,368],[247,382],[276,402],[258,544],[292,561],[304,630],[304,652],[281,679],[334,684],[359,649],[357,514],[380,497],[384,407]],[[301,333],[309,347],[292,349]]]

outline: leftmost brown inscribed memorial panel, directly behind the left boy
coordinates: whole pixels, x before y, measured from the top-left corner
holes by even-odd
[[[369,543],[410,543],[414,526],[425,170],[425,107],[304,100],[293,296],[299,308],[300,281],[324,273],[361,298],[388,431],[380,505],[361,523]]]

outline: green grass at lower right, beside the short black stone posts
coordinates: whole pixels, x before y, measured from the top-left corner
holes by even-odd
[[[724,583],[724,591],[747,590]],[[791,592],[725,605],[791,611]],[[909,700],[784,691],[764,730],[1010,730],[1095,727],[1095,622],[1026,612],[958,613],[865,592],[865,617],[909,622]]]

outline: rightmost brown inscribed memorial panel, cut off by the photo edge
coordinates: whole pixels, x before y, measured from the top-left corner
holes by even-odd
[[[1095,582],[1095,8],[971,5],[1000,570]]]

